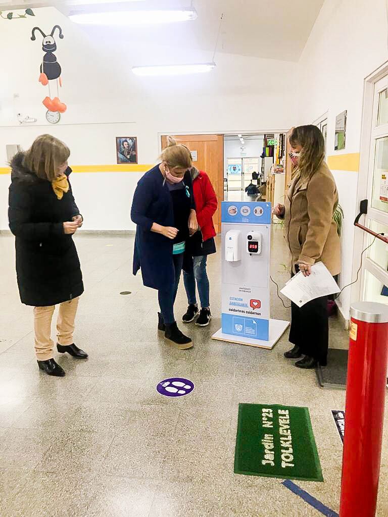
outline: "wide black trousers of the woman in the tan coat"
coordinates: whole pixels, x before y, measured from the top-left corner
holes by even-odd
[[[299,269],[296,266],[296,272]],[[292,274],[291,277],[294,275]],[[291,303],[290,343],[300,347],[302,354],[314,357],[321,366],[327,363],[329,349],[329,315],[327,296],[311,300],[303,307]]]

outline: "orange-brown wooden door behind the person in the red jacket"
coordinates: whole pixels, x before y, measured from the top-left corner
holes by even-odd
[[[210,178],[217,194],[218,208],[213,216],[216,232],[221,231],[221,201],[223,201],[223,135],[188,134],[174,135],[177,143],[185,144],[193,154],[193,165],[204,171]],[[162,149],[166,147],[167,137],[162,136]]]

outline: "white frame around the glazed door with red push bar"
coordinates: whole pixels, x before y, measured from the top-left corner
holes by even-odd
[[[372,152],[372,121],[375,109],[375,84],[385,76],[388,76],[388,61],[383,63],[379,68],[374,70],[364,79],[364,96],[363,96],[363,110],[361,123],[361,142],[360,142],[360,166],[359,166],[359,180],[357,186],[357,204],[355,207],[354,217],[359,213],[360,202],[364,199],[369,199],[369,187],[371,185],[371,178],[369,174],[370,157]],[[388,77],[387,77],[388,86]],[[368,207],[368,213],[371,214],[373,209]],[[360,256],[365,248],[365,232],[355,230],[354,245],[353,245],[353,265],[352,265],[352,281],[355,280],[357,270],[360,267]],[[363,289],[365,284],[365,271],[373,272],[376,269],[374,263],[367,257],[363,257],[363,275],[359,281],[352,285],[350,303],[359,301],[363,298]]]

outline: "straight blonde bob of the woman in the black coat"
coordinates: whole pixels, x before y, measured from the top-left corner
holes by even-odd
[[[66,144],[51,134],[42,134],[26,151],[23,165],[38,178],[54,181],[59,167],[69,156],[70,150]]]

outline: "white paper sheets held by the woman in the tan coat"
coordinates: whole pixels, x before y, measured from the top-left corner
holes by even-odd
[[[321,296],[339,292],[337,282],[323,262],[318,262],[311,267],[309,277],[304,277],[301,272],[297,273],[280,291],[298,307],[303,307],[307,302]]]

